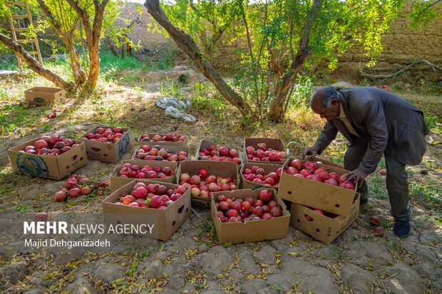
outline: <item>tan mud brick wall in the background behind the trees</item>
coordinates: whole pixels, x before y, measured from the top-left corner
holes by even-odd
[[[432,21],[422,31],[413,30],[408,27],[410,19],[408,19],[407,14],[410,10],[409,7],[406,7],[402,16],[396,19],[391,27],[391,32],[384,36],[382,40],[384,52],[378,57],[378,61],[404,64],[418,59],[427,59],[440,65],[442,63],[442,19]],[[436,10],[442,12],[442,5],[436,6]],[[144,6],[125,4],[122,7],[120,17],[129,21],[136,17],[140,18],[140,23],[134,27],[133,32],[130,32],[128,36],[135,42],[140,41],[142,46],[158,47],[164,43],[175,46],[170,38],[165,38],[157,31],[147,30],[148,26],[153,27],[156,22],[150,18]],[[238,46],[238,44],[235,46]],[[235,48],[226,49],[231,53],[235,51]],[[339,61],[359,63],[359,61],[366,62],[368,59],[364,56],[364,50],[360,46],[354,46]]]

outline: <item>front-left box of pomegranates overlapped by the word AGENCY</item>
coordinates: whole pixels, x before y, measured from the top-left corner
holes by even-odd
[[[134,179],[102,201],[106,225],[133,225],[137,236],[168,240],[189,218],[190,189]],[[141,230],[140,228],[144,228]]]

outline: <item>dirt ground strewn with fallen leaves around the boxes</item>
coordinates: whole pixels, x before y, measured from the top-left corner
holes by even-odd
[[[177,79],[183,73],[190,76],[189,85],[181,88],[184,97],[192,92],[195,82],[205,83],[201,75],[185,67],[155,75],[120,73],[122,76],[145,75],[145,83],[135,92],[124,85],[110,85],[110,90],[103,93],[106,105],[114,106],[113,122],[133,128],[135,135],[154,130],[181,132],[189,137],[191,155],[202,139],[240,151],[247,136],[282,137],[286,143],[294,141],[305,146],[312,143],[323,124],[319,118],[304,112],[292,114],[298,118],[279,125],[266,122],[252,126],[233,111],[220,114],[200,109],[189,110],[197,118],[196,122],[172,119],[155,106],[155,99],[163,95],[161,80]],[[122,97],[124,104],[118,104]],[[81,105],[73,99],[70,103],[70,107]],[[97,114],[109,113],[106,107],[96,109],[88,112],[91,110],[80,107],[70,116],[68,108],[58,106],[60,115],[47,123],[57,135],[79,137],[103,123],[93,122]],[[299,127],[302,117],[308,118],[307,127],[311,130],[308,135]],[[72,120],[71,124],[67,120]],[[23,221],[32,221],[43,211],[48,213],[49,221],[103,224],[101,201],[110,194],[103,188],[91,197],[58,203],[53,201],[53,194],[63,185],[63,180],[12,173],[6,149],[47,132],[45,127],[35,127],[23,137],[9,135],[0,141],[0,148],[4,150],[0,154],[0,228],[3,231],[0,293],[415,294],[442,291],[442,144],[428,145],[423,162],[407,169],[413,215],[412,233],[408,238],[397,238],[391,231],[393,219],[389,214],[385,176],[379,173],[381,163],[368,178],[369,203],[361,206],[356,222],[329,246],[292,227],[287,237],[280,240],[218,245],[212,238],[208,211],[195,209],[190,219],[165,242],[115,235],[108,236],[112,248],[106,250],[78,252],[39,248],[31,251],[24,248]],[[442,142],[441,132],[431,136]],[[329,147],[328,156],[339,158],[343,146],[344,140],[340,138]],[[133,143],[123,158],[130,158],[135,147]],[[98,182],[108,180],[114,167],[115,164],[90,161],[76,173]],[[423,169],[428,173],[421,173]],[[385,228],[384,236],[374,234],[370,216],[379,216]],[[85,236],[75,238],[82,240]]]

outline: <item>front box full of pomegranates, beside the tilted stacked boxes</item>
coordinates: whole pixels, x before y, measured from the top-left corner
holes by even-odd
[[[290,214],[274,189],[213,193],[210,218],[220,244],[285,238]]]

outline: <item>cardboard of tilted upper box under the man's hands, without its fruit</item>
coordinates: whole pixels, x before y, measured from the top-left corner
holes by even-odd
[[[288,159],[282,168],[288,167],[291,160],[292,158]],[[319,162],[318,167],[329,166]],[[349,171],[338,167],[329,167],[329,172],[336,172],[340,176]],[[282,172],[279,179],[279,198],[329,211],[340,216],[348,216],[351,213],[355,195],[356,187],[354,187],[354,190],[345,189],[311,179],[294,177],[286,172]]]

